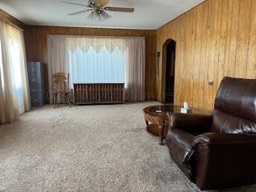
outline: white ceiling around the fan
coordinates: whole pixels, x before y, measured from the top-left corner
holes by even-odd
[[[66,0],[85,4],[84,0]],[[61,0],[0,0],[0,8],[28,25],[83,26],[129,29],[158,29],[204,0],[111,0],[108,6],[134,7],[133,14],[109,12],[112,18],[91,22],[89,13],[68,16],[82,6],[64,4]]]

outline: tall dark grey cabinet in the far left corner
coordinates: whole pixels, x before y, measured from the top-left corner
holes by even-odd
[[[28,62],[31,106],[43,106],[46,103],[44,63]]]

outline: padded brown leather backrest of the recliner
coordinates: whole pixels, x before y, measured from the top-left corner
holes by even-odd
[[[256,133],[256,79],[222,79],[215,98],[211,131]]]

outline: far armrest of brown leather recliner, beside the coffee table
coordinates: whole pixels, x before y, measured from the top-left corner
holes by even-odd
[[[209,132],[212,122],[211,115],[175,114],[172,128],[186,130],[190,133],[206,133]]]

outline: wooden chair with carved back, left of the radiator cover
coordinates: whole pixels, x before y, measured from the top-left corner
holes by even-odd
[[[57,73],[51,75],[53,87],[54,108],[57,106],[58,94],[64,94],[66,103],[70,106],[69,74]]]

